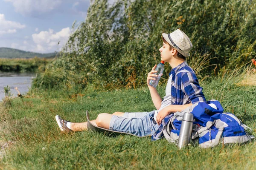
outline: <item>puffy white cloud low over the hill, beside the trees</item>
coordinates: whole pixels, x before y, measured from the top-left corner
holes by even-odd
[[[69,27],[61,29],[59,32],[54,32],[49,28],[48,31],[41,31],[38,34],[32,34],[32,39],[36,44],[35,51],[48,52],[56,48],[62,48],[67,42],[71,30]],[[58,44],[59,42],[59,44]]]

